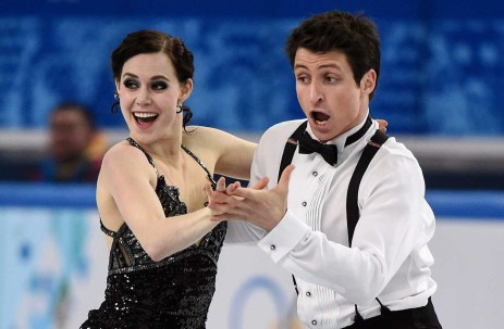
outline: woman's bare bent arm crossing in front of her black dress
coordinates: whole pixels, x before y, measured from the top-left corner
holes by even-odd
[[[110,223],[103,211],[113,214],[110,210],[115,204],[120,217],[150,258],[160,261],[199,241],[217,223],[209,220],[209,208],[167,219],[155,191],[156,182],[155,169],[145,155],[135,148],[118,144],[103,157],[99,179],[99,190],[113,200],[103,201],[107,198],[101,192],[97,202],[106,226]]]

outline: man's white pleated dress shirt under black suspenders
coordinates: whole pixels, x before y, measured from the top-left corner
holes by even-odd
[[[302,123],[281,123],[265,132],[250,185],[265,176],[270,178],[268,188],[276,185],[285,142]],[[295,276],[297,313],[308,328],[352,325],[354,304],[364,318],[377,316],[376,298],[391,311],[425,306],[437,289],[427,246],[435,222],[425,200],[423,176],[411,152],[394,138],[381,147],[362,177],[360,218],[348,248],[348,182],[378,123],[356,142],[344,144],[364,124],[329,142],[337,145],[335,166],[317,153],[295,152],[288,210],[269,233],[243,222],[229,225],[226,243],[258,241],[273,262]],[[309,126],[307,131],[314,137]]]

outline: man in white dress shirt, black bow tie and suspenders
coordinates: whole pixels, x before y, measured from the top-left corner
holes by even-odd
[[[256,240],[293,274],[308,328],[441,328],[421,169],[369,117],[380,74],[374,24],[319,14],[292,31],[286,51],[306,119],[265,132],[254,188],[223,193],[221,179],[221,192],[209,192],[209,207],[228,213],[216,217],[230,220],[226,241]]]

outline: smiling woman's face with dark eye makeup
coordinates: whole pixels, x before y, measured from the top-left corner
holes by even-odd
[[[182,114],[176,113],[176,105],[188,98],[192,87],[190,79],[181,85],[171,60],[162,52],[127,60],[116,90],[132,137],[151,143],[182,134]]]

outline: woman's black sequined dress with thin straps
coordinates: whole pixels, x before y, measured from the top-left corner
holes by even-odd
[[[133,139],[127,140],[146,154],[156,169],[150,155]],[[212,176],[201,161],[183,149],[207,172],[214,187]],[[186,205],[179,199],[177,188],[168,186],[162,175],[158,175],[156,193],[167,217],[187,213]],[[226,231],[224,222],[207,233],[199,244],[160,262],[150,260],[126,224],[116,232],[102,224],[101,229],[113,238],[105,302],[100,308],[89,312],[82,329],[205,328],[216,289],[217,262]]]

